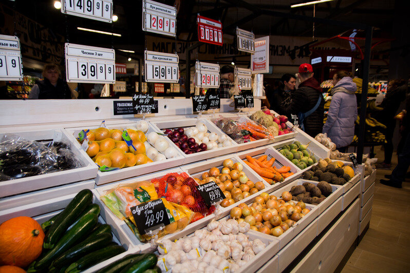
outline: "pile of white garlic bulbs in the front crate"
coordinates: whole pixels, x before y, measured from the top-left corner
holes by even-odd
[[[247,222],[213,221],[193,236],[176,242],[164,240],[163,247],[158,247],[158,263],[164,258],[172,273],[240,271],[266,246],[259,239],[250,241],[245,234],[249,229]]]

